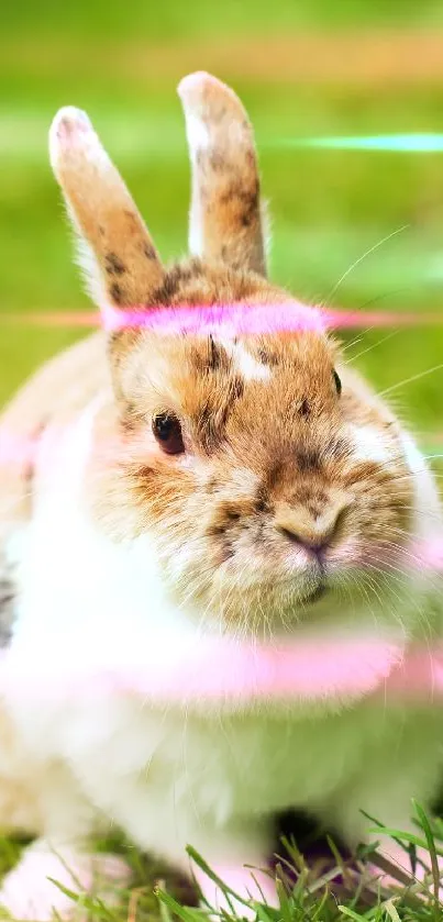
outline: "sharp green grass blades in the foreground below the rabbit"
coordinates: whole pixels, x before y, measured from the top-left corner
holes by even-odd
[[[91,922],[152,922],[153,919],[158,922],[177,922],[177,919],[202,922],[208,918],[236,922],[242,918],[242,911],[251,910],[256,913],[258,922],[339,922],[345,919],[359,922],[438,922],[443,918],[436,864],[439,855],[443,855],[443,823],[435,821],[431,826],[419,803],[413,803],[413,811],[417,832],[412,834],[386,830],[376,821],[372,824],[375,832],[389,833],[401,844],[411,858],[412,867],[416,849],[425,849],[427,874],[423,882],[419,882],[412,871],[400,871],[387,862],[379,854],[377,843],[362,848],[357,857],[350,858],[343,856],[334,842],[328,838],[328,848],[323,849],[323,854],[309,859],[294,836],[283,836],[274,869],[269,871],[276,886],[275,907],[244,898],[230,889],[191,846],[188,854],[192,865],[199,866],[219,886],[230,909],[219,911],[207,903],[201,893],[198,904],[197,887],[191,889],[189,884],[178,880],[170,869],[160,864],[146,863],[134,849],[125,852],[133,867],[134,885],[131,890],[120,893],[118,908],[111,908],[98,898],[76,896],[56,881],[54,886],[71,898],[79,913],[86,911]],[[109,847],[109,843],[106,845]],[[254,868],[251,873],[254,875]],[[394,878],[389,887],[384,885],[383,874]]]

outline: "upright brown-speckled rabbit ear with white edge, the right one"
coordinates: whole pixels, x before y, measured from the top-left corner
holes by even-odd
[[[266,275],[254,135],[235,93],[210,74],[178,86],[192,170],[189,248]]]

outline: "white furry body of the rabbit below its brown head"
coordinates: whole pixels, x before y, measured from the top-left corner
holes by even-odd
[[[166,691],[156,703],[152,695],[149,699],[149,665],[158,670],[162,664],[170,674],[177,653],[186,658],[186,651],[203,649],[204,630],[198,608],[192,612],[170,603],[155,537],[145,533],[123,548],[103,534],[88,509],[85,471],[95,455],[107,391],[103,380],[101,391],[92,400],[87,393],[85,409],[78,412],[76,407],[68,422],[65,418],[62,423],[56,413],[34,458],[33,518],[22,542],[20,607],[4,667],[8,710],[23,747],[19,765],[24,791],[38,769],[33,803],[42,791],[48,801],[47,815],[40,809],[35,826],[30,813],[27,829],[55,836],[56,843],[73,837],[81,842],[97,829],[93,807],[141,847],[171,862],[182,863],[191,843],[225,867],[231,859],[263,862],[273,813],[287,807],[311,810],[339,827],[350,844],[365,837],[368,823],[358,812],[363,803],[368,813],[405,826],[417,790],[422,797],[438,790],[442,719],[429,698],[413,708],[385,701],[385,678],[395,670],[406,642],[396,619],[418,635],[418,613],[421,618],[428,612],[431,621],[434,577],[405,575],[403,591],[397,581],[398,610],[391,603],[388,618],[384,606],[375,610],[374,601],[368,608],[358,596],[347,610],[342,600],[335,610],[323,600],[312,608],[309,625],[294,631],[295,644],[312,642],[313,648],[337,637],[342,643],[379,644],[366,688],[358,687],[367,668],[364,644],[362,663],[351,652],[344,666],[344,681],[348,670],[355,675],[354,692],[347,686],[341,690],[334,676],[337,687],[323,701],[295,696],[288,702],[278,695],[261,700],[258,693],[245,701],[241,682],[239,696],[234,688],[231,698],[223,700],[221,693],[208,701],[203,671],[211,667],[202,655],[201,697],[193,692],[188,699],[187,687],[178,682],[170,699]],[[416,535],[431,530],[436,535],[435,488],[418,449],[409,440],[407,445],[420,499]],[[211,636],[211,625],[207,629]],[[35,655],[42,637],[44,657]],[[222,643],[220,638],[220,651]],[[253,662],[257,649],[252,643]],[[245,671],[251,658],[244,660]],[[143,667],[145,681],[139,689],[135,677]],[[48,676],[54,677],[53,691],[42,698]],[[392,741],[395,756],[387,759]],[[73,766],[78,790],[69,771],[65,776],[58,767],[60,760]],[[57,766],[55,777],[52,764]],[[9,774],[14,776],[16,765]],[[19,804],[23,814],[22,795]],[[4,823],[14,824],[13,815],[7,812]]]

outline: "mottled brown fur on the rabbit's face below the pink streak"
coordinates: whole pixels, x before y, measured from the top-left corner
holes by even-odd
[[[258,356],[264,337],[242,342]],[[270,345],[276,345],[272,337]],[[89,470],[101,527],[114,540],[154,527],[166,567],[180,555],[188,557],[180,571],[182,597],[193,587],[206,602],[221,568],[229,566],[231,585],[245,557],[263,595],[272,581],[288,575],[292,540],[296,545],[298,540],[324,544],[331,564],[352,540],[347,567],[355,573],[395,564],[392,543],[398,548],[405,543],[412,503],[399,430],[389,427],[388,442],[385,435],[390,468],[353,460],[348,425],[361,425],[366,416],[379,427],[390,414],[375,399],[368,406],[358,379],[343,369],[343,396],[337,398],[329,343],[311,334],[288,337],[272,380],[246,382],[235,396],[233,368],[201,373],[208,349],[204,340],[198,347],[195,337],[166,342],[140,334],[137,348],[122,366],[137,423],[129,438],[118,436],[110,453],[114,463],[103,463],[97,434]],[[158,375],[157,368],[163,369]],[[300,399],[309,401],[309,416],[300,415]],[[155,444],[149,420],[159,409],[180,419],[185,457],[166,456]],[[174,566],[173,571],[176,584]],[[235,593],[231,598],[234,604]]]

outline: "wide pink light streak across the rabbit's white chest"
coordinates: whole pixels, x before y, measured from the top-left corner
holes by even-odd
[[[168,642],[170,641],[170,643]],[[375,696],[386,703],[429,706],[443,699],[443,643],[431,651],[374,638],[335,642],[294,641],[265,646],[226,637],[196,636],[177,651],[174,638],[137,651],[137,660],[84,665],[73,656],[59,658],[47,649],[44,662],[35,646],[19,656],[3,651],[0,690],[22,701],[27,696],[57,696],[90,703],[91,696],[137,697],[145,704],[195,706],[203,712],[225,706],[254,707],[261,702],[300,706],[345,702]],[[73,651],[71,651],[73,653]],[[96,652],[95,652],[96,653]]]

